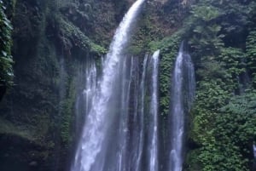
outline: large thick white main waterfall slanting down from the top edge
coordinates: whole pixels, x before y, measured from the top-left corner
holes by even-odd
[[[73,161],[73,171],[101,171],[107,152],[108,128],[113,124],[113,88],[118,77],[123,49],[128,43],[131,28],[144,0],[137,0],[125,14],[115,32],[113,42],[104,62],[102,80],[92,97],[92,106],[86,116],[83,133]],[[105,147],[105,148],[103,148]]]

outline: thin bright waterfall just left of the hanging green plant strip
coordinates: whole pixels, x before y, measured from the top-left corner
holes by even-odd
[[[150,102],[150,132],[151,132],[151,142],[150,142],[150,162],[149,171],[158,171],[158,63],[159,63],[160,50],[154,52],[152,56],[152,92],[151,92],[151,102]]]

